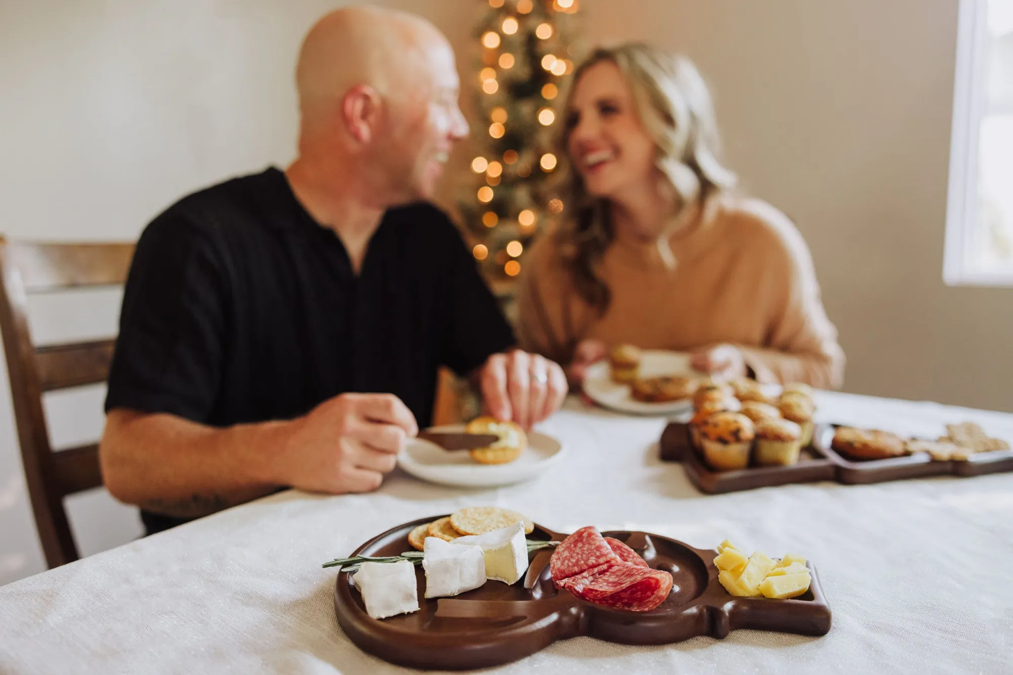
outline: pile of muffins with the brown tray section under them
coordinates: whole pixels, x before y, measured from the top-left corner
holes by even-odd
[[[792,483],[829,481],[834,462],[811,447],[815,404],[804,385],[780,395],[747,379],[704,382],[688,424],[673,422],[661,434],[666,461],[682,461],[701,492],[720,494]]]

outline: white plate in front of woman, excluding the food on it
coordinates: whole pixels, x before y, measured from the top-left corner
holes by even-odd
[[[690,355],[681,351],[645,349],[641,352],[640,376],[687,375],[703,377],[706,373],[690,367]],[[599,361],[588,368],[583,379],[583,392],[600,406],[633,415],[675,415],[693,409],[692,399],[666,401],[665,403],[644,403],[630,396],[629,385],[612,382],[612,371],[608,360]]]

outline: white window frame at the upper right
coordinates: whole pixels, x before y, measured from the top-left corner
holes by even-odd
[[[960,0],[943,281],[947,285],[1013,286],[1013,270],[983,272],[967,265],[978,229],[979,148],[986,113],[988,2]]]

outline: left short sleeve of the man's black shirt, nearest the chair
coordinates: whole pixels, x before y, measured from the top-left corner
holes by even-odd
[[[206,233],[163,215],[138,242],[124,290],[105,410],[207,422],[219,395],[226,284]]]

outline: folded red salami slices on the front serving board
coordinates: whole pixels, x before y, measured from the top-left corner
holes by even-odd
[[[672,574],[626,562],[636,552],[624,550],[621,557],[614,545],[597,528],[581,527],[552,552],[552,582],[582,600],[617,609],[649,611],[661,604],[672,591]]]

